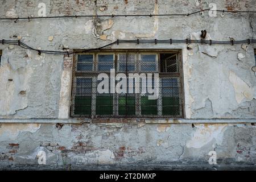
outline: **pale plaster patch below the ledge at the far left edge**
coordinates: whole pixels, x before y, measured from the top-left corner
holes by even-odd
[[[35,133],[41,127],[38,123],[6,123],[0,125],[0,141],[15,140],[22,132]]]

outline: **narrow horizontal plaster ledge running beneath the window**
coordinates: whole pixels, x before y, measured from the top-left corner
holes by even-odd
[[[145,119],[146,124],[161,124],[161,123],[255,123],[256,118],[246,118],[246,119]],[[92,119],[0,119],[1,123],[67,123],[67,124],[81,124],[81,123],[91,123],[91,124],[104,124],[104,123],[92,123]],[[109,122],[106,122],[109,124]],[[115,122],[120,124],[119,122]],[[113,124],[115,124],[113,123]],[[138,124],[141,122],[127,122],[127,124]]]

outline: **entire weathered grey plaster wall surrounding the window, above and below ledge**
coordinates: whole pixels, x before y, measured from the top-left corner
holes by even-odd
[[[190,13],[208,9],[211,1],[2,0],[0,16],[38,16],[42,2],[46,15],[54,16]],[[253,0],[214,3],[220,10],[256,9]],[[31,47],[56,51],[96,48],[116,39],[200,39],[201,30],[208,31],[208,40],[255,39],[255,16],[217,13],[210,17],[206,11],[188,17],[0,20],[0,39],[20,39]],[[39,56],[0,45],[0,168],[36,165],[41,150],[46,152],[48,168],[176,163],[209,167],[208,153],[213,150],[218,164],[254,167],[255,44],[119,44],[110,48],[182,49],[185,119],[95,124],[68,118],[72,57]],[[65,124],[56,128],[56,123]],[[197,124],[192,127],[191,123]]]

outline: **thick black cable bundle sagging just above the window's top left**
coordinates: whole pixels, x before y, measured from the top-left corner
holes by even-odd
[[[21,42],[20,40],[0,40],[0,44],[9,44],[9,45],[15,45],[22,47],[24,49],[30,49],[32,51],[37,51],[39,55],[41,53],[46,53],[46,54],[51,54],[51,55],[72,55],[74,53],[85,53],[85,52],[90,52],[90,51],[100,51],[101,49],[105,47],[112,46],[114,44],[119,45],[120,43],[135,43],[135,44],[140,44],[140,43],[164,43],[164,44],[178,44],[178,43],[184,43],[184,44],[192,44],[192,43],[197,43],[197,44],[209,44],[210,46],[213,44],[223,44],[223,45],[234,45],[234,44],[251,44],[251,43],[256,43],[256,39],[246,39],[246,40],[230,40],[230,41],[218,41],[218,40],[191,40],[191,39],[184,39],[184,40],[175,40],[175,39],[167,39],[167,40],[119,40],[117,39],[115,42],[106,44],[105,46],[98,47],[98,48],[92,48],[92,49],[82,49],[80,51],[49,51],[49,50],[41,50],[41,49],[35,49],[27,44]]]

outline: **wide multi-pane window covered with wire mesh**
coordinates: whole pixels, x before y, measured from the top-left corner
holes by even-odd
[[[156,76],[158,97],[152,99]],[[183,117],[180,52],[105,51],[76,55],[71,117]]]

